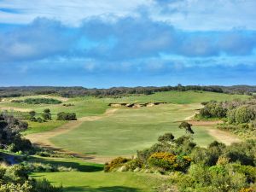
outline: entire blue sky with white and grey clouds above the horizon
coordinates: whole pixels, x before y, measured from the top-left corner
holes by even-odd
[[[255,0],[0,0],[0,86],[256,84]]]

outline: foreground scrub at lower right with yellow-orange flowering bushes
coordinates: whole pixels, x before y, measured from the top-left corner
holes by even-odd
[[[137,158],[117,158],[105,172],[160,172],[170,182],[158,191],[253,191],[256,187],[256,141],[213,142],[197,147],[191,136],[175,138],[172,133],[159,137],[159,143],[137,152]]]

